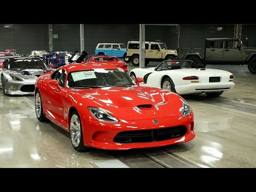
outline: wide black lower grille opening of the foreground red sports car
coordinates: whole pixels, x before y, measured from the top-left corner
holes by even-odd
[[[137,143],[164,141],[182,137],[187,133],[186,126],[167,127],[154,130],[123,131],[118,133],[114,142],[118,143]]]

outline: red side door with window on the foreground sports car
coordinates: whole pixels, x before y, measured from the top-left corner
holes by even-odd
[[[44,98],[47,102],[47,109],[49,109],[52,117],[54,119],[63,119],[63,102],[62,98],[65,97],[65,82],[66,82],[66,70],[60,69],[55,73],[55,76],[52,79],[58,80],[60,85],[47,85],[47,93],[45,93]],[[58,121],[59,122],[59,121]]]

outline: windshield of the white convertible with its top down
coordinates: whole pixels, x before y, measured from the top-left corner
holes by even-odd
[[[193,61],[190,60],[169,60],[169,61],[163,61],[160,63],[155,70],[172,70],[175,65],[175,69],[177,69],[177,66],[179,65],[181,69],[187,69],[187,68],[193,68]]]

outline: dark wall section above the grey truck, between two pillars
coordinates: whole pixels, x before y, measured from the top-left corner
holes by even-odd
[[[205,38],[234,38],[234,25],[180,25],[179,47],[205,47]]]

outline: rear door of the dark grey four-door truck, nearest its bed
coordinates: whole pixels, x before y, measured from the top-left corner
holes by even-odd
[[[205,47],[205,60],[222,61],[223,60],[223,41],[212,41],[209,47]]]

